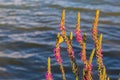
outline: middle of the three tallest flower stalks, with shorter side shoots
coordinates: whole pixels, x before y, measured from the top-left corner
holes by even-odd
[[[86,33],[82,36],[81,29],[80,29],[80,12],[78,12],[78,16],[77,16],[75,35],[76,35],[76,41],[79,43],[82,49],[80,52],[81,60],[84,63],[82,80],[92,80],[92,60],[91,59],[93,58],[94,50],[92,51],[90,61],[88,61],[86,59]]]

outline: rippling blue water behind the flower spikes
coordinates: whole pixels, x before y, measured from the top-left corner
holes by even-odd
[[[67,34],[75,30],[77,12],[87,33],[87,57],[94,47],[91,28],[100,9],[99,32],[103,33],[103,60],[111,80],[120,73],[120,0],[0,0],[0,80],[45,80],[47,57],[51,57],[54,80],[62,80],[53,48],[62,9],[66,9]],[[74,35],[75,37],[75,35]],[[74,80],[66,46],[61,45],[67,80]],[[82,74],[80,47],[73,48]],[[97,80],[96,58],[93,77]]]

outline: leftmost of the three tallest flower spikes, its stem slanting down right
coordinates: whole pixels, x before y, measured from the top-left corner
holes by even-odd
[[[69,38],[66,35],[66,30],[65,30],[65,10],[62,11],[62,17],[61,17],[61,21],[60,21],[60,30],[62,32],[62,37],[66,42],[67,45],[67,51],[68,51],[68,56],[71,60],[71,64],[72,64],[72,71],[76,77],[76,80],[78,80],[78,76],[79,76],[79,70],[78,70],[78,66],[75,60],[75,56],[74,56],[74,50],[72,48],[72,43],[70,42]]]

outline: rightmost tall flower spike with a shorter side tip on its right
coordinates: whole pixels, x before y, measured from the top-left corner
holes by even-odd
[[[99,18],[99,10],[96,11],[96,16],[95,16],[95,20],[92,28],[92,37],[93,37],[95,49],[96,49],[99,79],[106,80],[107,74],[106,74],[105,66],[103,64],[103,59],[102,59],[102,34],[100,35],[100,38],[98,38],[98,30],[97,30],[98,18]]]

